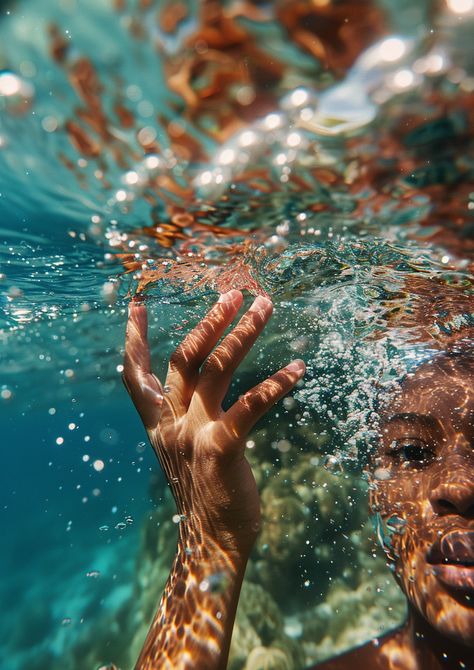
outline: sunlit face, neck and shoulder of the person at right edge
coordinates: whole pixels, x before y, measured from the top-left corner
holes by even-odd
[[[383,412],[370,506],[394,529],[385,549],[409,617],[320,670],[474,667],[473,381],[472,356],[441,354]]]

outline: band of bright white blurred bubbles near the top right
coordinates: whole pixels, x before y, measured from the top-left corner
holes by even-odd
[[[294,89],[282,99],[278,112],[258,119],[220,148],[214,163],[197,175],[198,192],[203,198],[215,198],[269,151],[282,183],[300,163],[333,165],[336,157],[325,148],[325,140],[363,130],[394,96],[449,69],[449,55],[442,45],[421,56],[418,49],[415,39],[391,35],[363,52],[340,83],[321,92]]]

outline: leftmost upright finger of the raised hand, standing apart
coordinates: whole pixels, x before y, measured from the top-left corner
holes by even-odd
[[[163,388],[151,370],[147,339],[148,318],[143,303],[129,305],[122,379],[146,428],[160,418]]]

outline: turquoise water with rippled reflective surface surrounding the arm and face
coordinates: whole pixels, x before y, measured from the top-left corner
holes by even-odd
[[[328,33],[325,62],[288,37],[279,3],[249,4],[247,16],[222,3],[239,26],[232,46],[206,42],[204,5],[186,6],[173,33],[166,3],[1,4],[9,670],[131,666],[159,592],[144,577],[150,547],[172,556],[172,508],[120,379],[136,290],[158,373],[231,287],[276,306],[233,396],[256,369],[263,377],[294,355],[308,363],[251,453],[283,527],[298,527],[308,469],[332,501],[349,501],[340,513],[308,502],[304,531],[286,541],[269,531],[249,568],[247,601],[258,589],[273,599],[285,644],[303,650],[297,667],[403,617],[383,559],[357,535],[360,463],[376,433],[372,382],[389,391],[447,341],[472,336],[472,11],[384,2],[355,53],[334,55]],[[334,542],[344,560],[331,558]],[[169,556],[157,559],[157,584]],[[279,591],[281,574],[294,579]],[[243,637],[256,624],[243,612],[239,626]],[[278,637],[257,633],[269,646]],[[234,663],[243,667],[238,654]]]

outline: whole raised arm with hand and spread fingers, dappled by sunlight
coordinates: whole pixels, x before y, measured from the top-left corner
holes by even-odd
[[[240,587],[260,527],[260,502],[245,437],[304,374],[294,361],[226,412],[232,375],[272,313],[258,297],[216,346],[242,305],[221,296],[170,359],[164,386],[151,371],[147,314],[132,302],[124,383],[176,501],[178,551],[136,670],[226,667]]]

